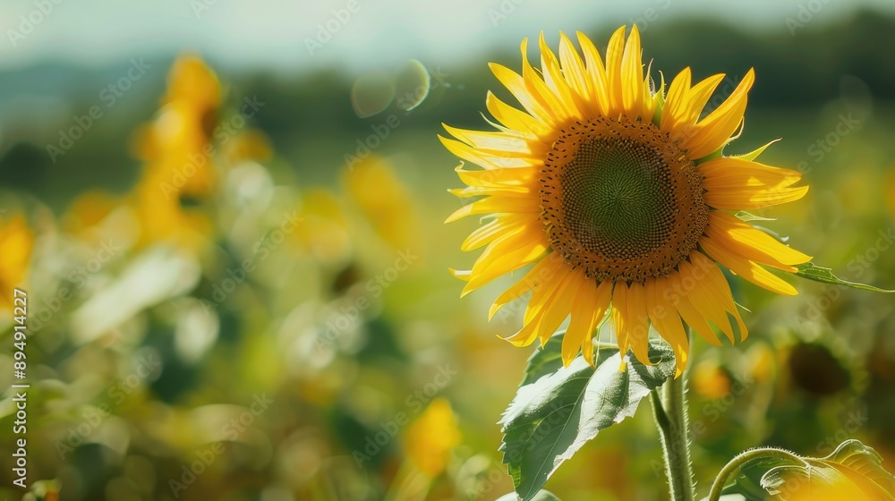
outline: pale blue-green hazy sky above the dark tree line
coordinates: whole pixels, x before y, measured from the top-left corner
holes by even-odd
[[[516,46],[544,30],[642,30],[709,17],[759,30],[836,21],[891,0],[4,0],[0,68],[84,66],[189,49],[226,65],[281,72],[364,69],[410,58],[449,64],[470,51]],[[789,21],[788,21],[789,20]]]

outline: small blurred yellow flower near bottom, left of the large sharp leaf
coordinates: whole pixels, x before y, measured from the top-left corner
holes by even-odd
[[[460,440],[460,430],[457,429],[450,403],[444,398],[436,398],[410,425],[404,451],[417,470],[435,478],[447,468],[450,453],[460,445]]]

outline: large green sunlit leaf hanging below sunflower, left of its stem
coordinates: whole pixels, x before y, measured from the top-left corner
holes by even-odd
[[[558,347],[550,344],[557,338],[548,342],[550,352]],[[540,357],[533,356],[544,362],[535,364],[538,369],[531,374],[556,367],[556,361],[549,361],[548,345]],[[551,374],[533,378],[526,373],[525,381],[533,382],[519,388],[500,420],[503,461],[523,501],[535,499],[561,463],[602,429],[633,416],[640,401],[674,374],[668,344],[652,344],[649,354],[655,365],[626,355],[626,369],[619,370],[618,348],[606,347],[597,352],[596,369],[579,356],[568,367],[560,362]]]

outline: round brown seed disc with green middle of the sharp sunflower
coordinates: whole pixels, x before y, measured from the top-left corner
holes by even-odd
[[[708,221],[703,177],[650,122],[595,118],[559,132],[541,171],[553,250],[597,280],[667,276]]]

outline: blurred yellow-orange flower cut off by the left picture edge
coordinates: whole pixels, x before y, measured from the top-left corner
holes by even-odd
[[[28,263],[34,246],[34,234],[25,218],[0,219],[0,303],[4,311],[13,304],[13,289],[24,287]]]

